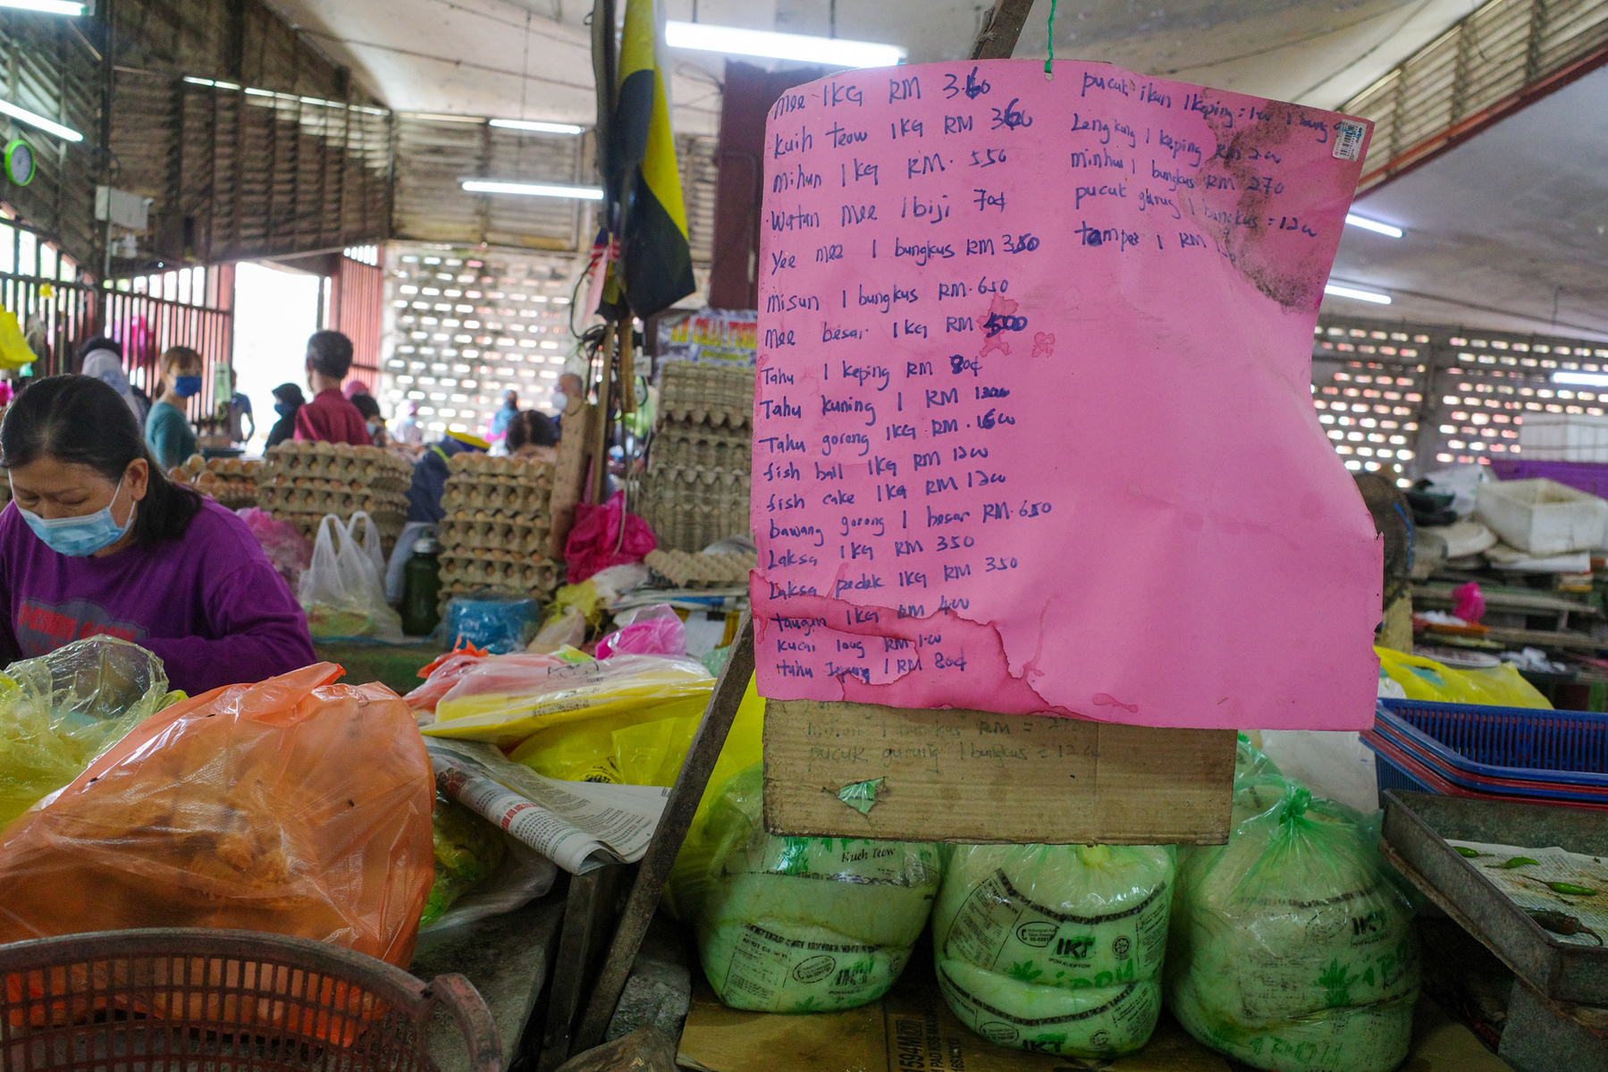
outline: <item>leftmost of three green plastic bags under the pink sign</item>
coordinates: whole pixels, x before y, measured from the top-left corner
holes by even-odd
[[[708,869],[671,879],[683,917],[696,924],[709,985],[725,1004],[762,1012],[875,1001],[926,927],[937,848],[772,837],[761,821],[761,771],[735,774],[709,808]]]

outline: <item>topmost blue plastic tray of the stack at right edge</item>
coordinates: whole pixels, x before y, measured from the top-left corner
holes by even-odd
[[[1375,721],[1470,774],[1608,789],[1608,715],[1380,700]]]

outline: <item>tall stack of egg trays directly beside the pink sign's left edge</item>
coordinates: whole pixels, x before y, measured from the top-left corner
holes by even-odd
[[[640,510],[666,550],[701,550],[749,531],[754,370],[672,361]]]

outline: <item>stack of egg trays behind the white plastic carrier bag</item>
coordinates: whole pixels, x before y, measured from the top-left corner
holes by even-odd
[[[400,454],[346,443],[280,443],[264,457],[257,505],[317,539],[326,513],[351,522],[367,510],[389,552],[407,522],[413,464]]]

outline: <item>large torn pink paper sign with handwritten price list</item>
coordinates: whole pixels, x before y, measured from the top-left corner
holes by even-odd
[[[1381,549],[1312,409],[1370,127],[1092,63],[770,111],[761,694],[1373,719]]]

